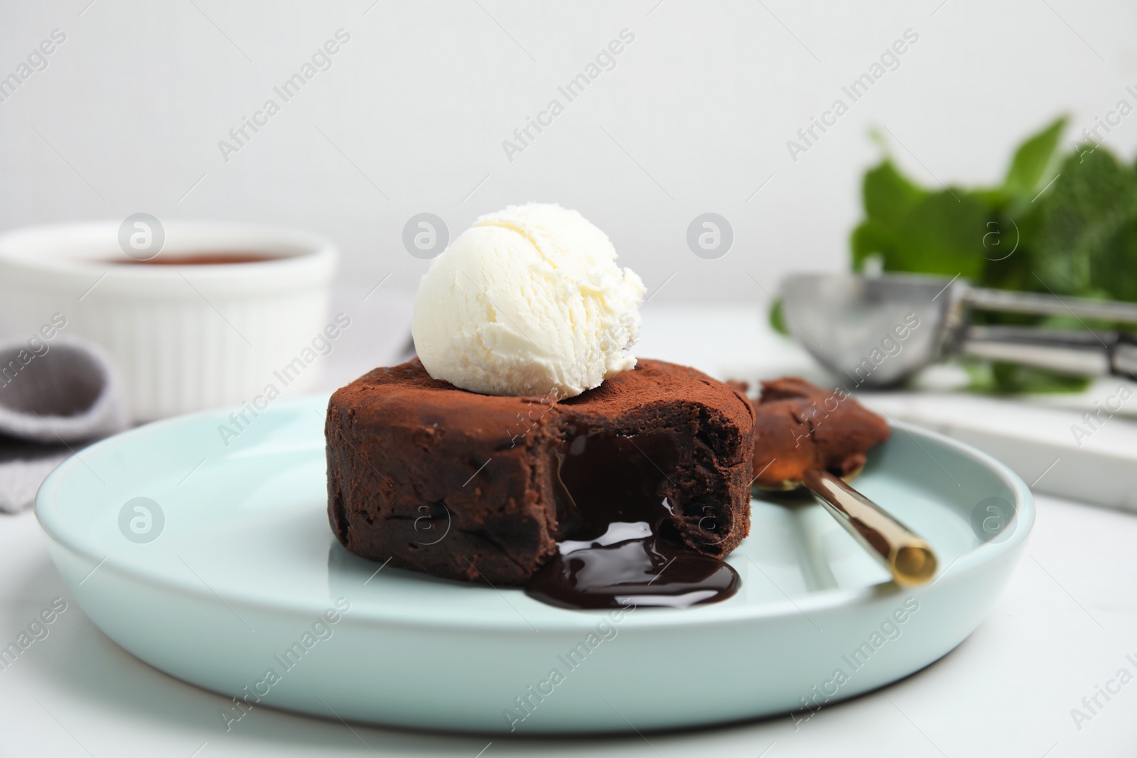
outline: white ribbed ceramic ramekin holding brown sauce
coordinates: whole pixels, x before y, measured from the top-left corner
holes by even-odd
[[[130,265],[122,263],[130,259],[118,222],[13,231],[0,235],[0,330],[30,336],[65,319],[60,333],[110,352],[136,422],[242,403],[268,384],[289,394],[310,388],[318,366],[307,358],[327,324],[335,247],[272,226],[164,227],[163,256],[249,251],[273,259]]]

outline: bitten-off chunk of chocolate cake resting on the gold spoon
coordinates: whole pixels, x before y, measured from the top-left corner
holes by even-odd
[[[763,382],[754,405],[754,485],[763,490],[792,490],[810,468],[852,476],[890,434],[848,393],[795,376]]]

